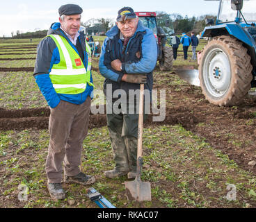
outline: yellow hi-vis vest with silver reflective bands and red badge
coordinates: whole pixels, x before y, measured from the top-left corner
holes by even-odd
[[[59,94],[80,94],[86,90],[90,83],[90,69],[92,65],[91,49],[86,42],[88,65],[85,68],[79,54],[61,35],[48,35],[51,37],[60,53],[60,62],[54,64],[49,76],[54,89]],[[78,41],[78,40],[77,40]]]

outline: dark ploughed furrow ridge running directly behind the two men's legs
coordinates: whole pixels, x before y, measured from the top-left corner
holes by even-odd
[[[92,110],[92,109],[91,109]],[[0,109],[0,130],[24,130],[28,128],[47,129],[49,125],[49,108],[5,110]],[[154,121],[157,114],[148,114],[145,126],[181,124],[191,128],[198,123],[198,119],[189,110],[176,110],[168,108],[166,118],[163,121]],[[90,114],[89,128],[106,126],[106,114]]]

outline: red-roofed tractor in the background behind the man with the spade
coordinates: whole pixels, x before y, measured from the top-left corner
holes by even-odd
[[[156,12],[135,12],[143,25],[150,28],[157,39],[158,61],[161,71],[170,71],[173,69],[173,49],[170,47],[175,44],[173,28],[170,28],[170,22],[157,21]],[[162,26],[165,24],[165,26]],[[170,36],[170,37],[169,37]],[[166,43],[169,45],[166,45]]]

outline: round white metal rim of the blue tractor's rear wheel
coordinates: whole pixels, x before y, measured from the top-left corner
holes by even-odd
[[[226,53],[221,49],[212,49],[205,58],[203,78],[209,94],[223,96],[230,87],[231,69]]]

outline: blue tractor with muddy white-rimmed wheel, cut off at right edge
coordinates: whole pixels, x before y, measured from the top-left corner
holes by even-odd
[[[220,0],[216,25],[205,27],[209,42],[199,55],[200,87],[215,105],[239,105],[256,87],[256,0]]]

